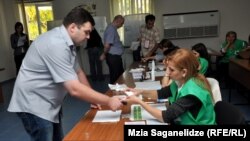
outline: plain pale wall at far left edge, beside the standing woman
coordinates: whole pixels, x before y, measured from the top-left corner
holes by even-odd
[[[5,71],[0,73],[0,82],[15,77],[13,50],[10,46],[10,34],[14,32],[18,21],[18,10],[15,0],[0,0],[0,67]]]

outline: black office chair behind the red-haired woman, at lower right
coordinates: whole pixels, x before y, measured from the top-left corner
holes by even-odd
[[[218,101],[214,106],[216,122],[218,125],[244,125],[246,119],[244,114],[234,105]]]

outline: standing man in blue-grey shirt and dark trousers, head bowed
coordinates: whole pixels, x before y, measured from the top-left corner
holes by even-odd
[[[109,67],[110,84],[114,84],[124,72],[122,63],[124,47],[117,32],[117,29],[123,26],[124,20],[122,15],[115,16],[113,22],[107,26],[104,32],[104,51],[100,59],[104,60],[106,58]]]

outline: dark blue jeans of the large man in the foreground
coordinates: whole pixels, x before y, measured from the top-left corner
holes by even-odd
[[[63,131],[61,118],[53,123],[29,113],[17,113],[32,141],[62,141]]]

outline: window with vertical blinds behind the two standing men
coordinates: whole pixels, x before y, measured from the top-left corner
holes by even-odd
[[[154,0],[110,0],[110,17],[140,13],[154,13]],[[119,29],[120,38],[124,41],[124,28]]]

